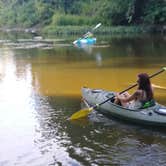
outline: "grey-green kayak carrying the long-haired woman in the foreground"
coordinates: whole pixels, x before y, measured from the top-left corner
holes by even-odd
[[[82,97],[89,106],[99,104],[114,95],[115,92],[102,89],[82,88]],[[124,108],[109,100],[108,102],[99,105],[96,110],[107,117],[115,117],[127,122],[158,127],[166,126],[166,106],[157,102],[151,107],[133,110]]]

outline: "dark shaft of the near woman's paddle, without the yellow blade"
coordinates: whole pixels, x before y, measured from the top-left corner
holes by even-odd
[[[158,75],[158,74],[160,74],[160,73],[162,73],[162,72],[164,72],[164,71],[165,71],[165,68],[163,68],[163,69],[159,70],[158,72],[156,72],[156,73],[150,75],[149,78],[152,78],[152,77],[154,77],[154,76],[156,76],[156,75]],[[121,91],[119,94],[122,94],[122,93],[124,93],[124,92],[126,92],[126,91],[128,91],[128,90],[130,90],[130,89],[132,89],[132,88],[134,88],[134,87],[136,87],[137,85],[138,85],[138,84],[135,83],[134,85],[132,85],[132,86],[128,87],[127,89]],[[115,96],[112,96],[112,97],[108,98],[107,100],[105,100],[105,101],[103,101],[103,102],[101,102],[101,103],[99,103],[99,104],[96,104],[96,105],[93,107],[93,109],[95,109],[95,108],[97,108],[98,106],[100,106],[100,105],[106,103],[107,101],[113,99],[114,97],[115,97]]]

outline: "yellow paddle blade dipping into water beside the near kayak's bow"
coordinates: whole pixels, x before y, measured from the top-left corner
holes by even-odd
[[[74,113],[70,118],[69,120],[76,120],[76,119],[79,119],[79,118],[84,118],[86,116],[88,116],[88,114],[93,110],[93,107],[91,108],[87,108],[87,109],[82,109],[76,113]]]

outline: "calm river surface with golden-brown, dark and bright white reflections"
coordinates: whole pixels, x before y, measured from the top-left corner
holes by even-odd
[[[163,38],[102,38],[90,52],[75,48],[73,39],[33,39],[0,42],[0,165],[166,164],[164,130],[95,111],[67,121],[81,107],[82,86],[121,91],[138,73],[165,66]],[[152,82],[156,99],[166,104],[165,73]]]

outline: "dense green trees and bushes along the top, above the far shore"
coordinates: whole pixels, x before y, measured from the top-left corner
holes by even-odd
[[[1,0],[1,28],[166,25],[166,0]]]

